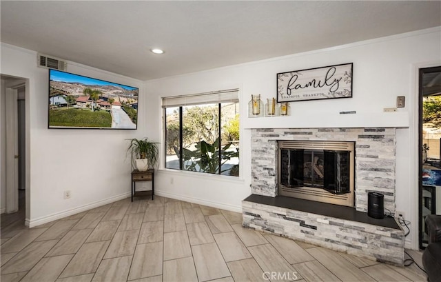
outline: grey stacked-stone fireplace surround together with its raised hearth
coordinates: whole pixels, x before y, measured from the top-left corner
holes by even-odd
[[[318,214],[314,209],[296,209],[296,203],[310,206],[316,202],[277,197],[278,140],[355,141],[355,210],[336,207],[337,212],[329,208],[334,212],[327,214],[325,208]],[[385,212],[394,214],[395,167],[396,128],[252,129],[252,196],[243,201],[243,226],[402,265],[403,230],[391,218],[372,221],[366,213],[367,193],[380,192]],[[353,216],[338,215],[348,213]]]

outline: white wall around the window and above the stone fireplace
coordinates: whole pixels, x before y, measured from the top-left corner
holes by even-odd
[[[274,125],[278,128],[294,128],[296,124],[300,124],[298,121],[305,123],[305,119],[308,119],[315,127],[338,127],[341,125],[338,112],[347,110],[356,110],[356,115],[346,119],[360,121],[360,127],[365,126],[365,123],[378,127],[393,126],[389,117],[397,123],[396,127],[404,124],[404,128],[398,129],[396,205],[397,210],[409,214],[407,219],[412,221],[415,228],[408,238],[412,248],[418,248],[418,234],[415,231],[418,230],[418,210],[415,208],[418,197],[414,197],[414,192],[418,189],[418,163],[415,157],[418,148],[413,141],[416,138],[415,130],[418,130],[413,123],[418,120],[418,112],[414,110],[414,103],[418,101],[415,87],[415,76],[418,74],[416,66],[441,63],[440,30],[431,28],[347,46],[147,81],[146,92],[150,97],[240,88],[240,180],[164,169],[159,172],[156,191],[169,197],[198,203],[216,203],[220,207],[239,210],[240,201],[250,194],[251,144],[248,128],[258,128],[259,123],[273,122],[271,118],[247,118],[247,103],[251,94],[260,93],[263,99],[276,97],[278,72],[352,62],[353,98],[291,103],[291,117],[276,118]],[[384,114],[383,108],[396,106],[397,96],[406,97],[406,107],[398,109],[398,114]],[[161,101],[154,98],[154,103],[156,108],[152,109],[152,120],[162,125]],[[410,121],[402,122],[397,117]],[[369,121],[365,121],[366,119]],[[162,128],[156,128],[156,139],[161,138],[162,134]]]

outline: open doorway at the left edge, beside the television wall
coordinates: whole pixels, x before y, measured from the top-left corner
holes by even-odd
[[[1,231],[25,225],[26,79],[1,75]]]

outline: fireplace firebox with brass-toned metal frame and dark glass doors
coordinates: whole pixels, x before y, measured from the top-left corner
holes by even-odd
[[[278,194],[354,205],[354,142],[278,141]]]

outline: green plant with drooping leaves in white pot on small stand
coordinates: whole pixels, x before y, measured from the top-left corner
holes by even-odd
[[[130,145],[127,148],[127,154],[130,154],[132,167],[139,171],[145,171],[153,168],[158,161],[157,142],[149,141],[149,139],[128,139]]]

